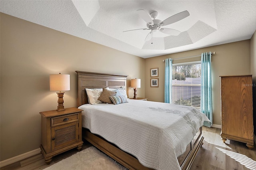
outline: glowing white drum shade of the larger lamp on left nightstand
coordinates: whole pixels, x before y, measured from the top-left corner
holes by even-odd
[[[50,91],[70,90],[69,74],[50,74]]]

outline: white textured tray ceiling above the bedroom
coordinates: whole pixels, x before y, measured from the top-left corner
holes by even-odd
[[[190,16],[150,30],[137,10],[158,12],[156,19],[187,10]],[[256,0],[1,0],[0,12],[124,51],[142,58],[248,40],[256,30]]]

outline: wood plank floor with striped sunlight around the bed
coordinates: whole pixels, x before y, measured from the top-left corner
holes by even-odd
[[[219,128],[203,128],[204,144],[190,170],[256,170],[256,147],[249,150],[245,143],[234,140],[222,142]],[[82,149],[92,146],[84,142]],[[77,150],[72,149],[54,156],[50,165],[71,156]],[[38,154],[4,166],[1,170],[42,170],[50,165],[44,163],[42,154]]]

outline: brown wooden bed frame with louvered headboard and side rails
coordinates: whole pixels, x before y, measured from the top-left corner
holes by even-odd
[[[127,75],[92,73],[84,71],[76,71],[76,73],[78,74],[77,107],[88,103],[85,88],[119,88],[124,86],[126,89]],[[92,134],[90,130],[86,128],[82,128],[82,137],[130,170],[152,170],[140,164],[138,159],[133,155],[121,150],[101,136]],[[190,168],[200,146],[203,143],[203,139],[202,128],[200,128],[193,140],[187,145],[184,154],[178,157],[182,170],[188,170]]]

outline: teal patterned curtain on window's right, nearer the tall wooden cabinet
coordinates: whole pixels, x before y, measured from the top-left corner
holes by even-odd
[[[212,53],[202,53],[201,55],[201,112],[204,113],[210,122],[204,122],[204,126],[212,125]]]

